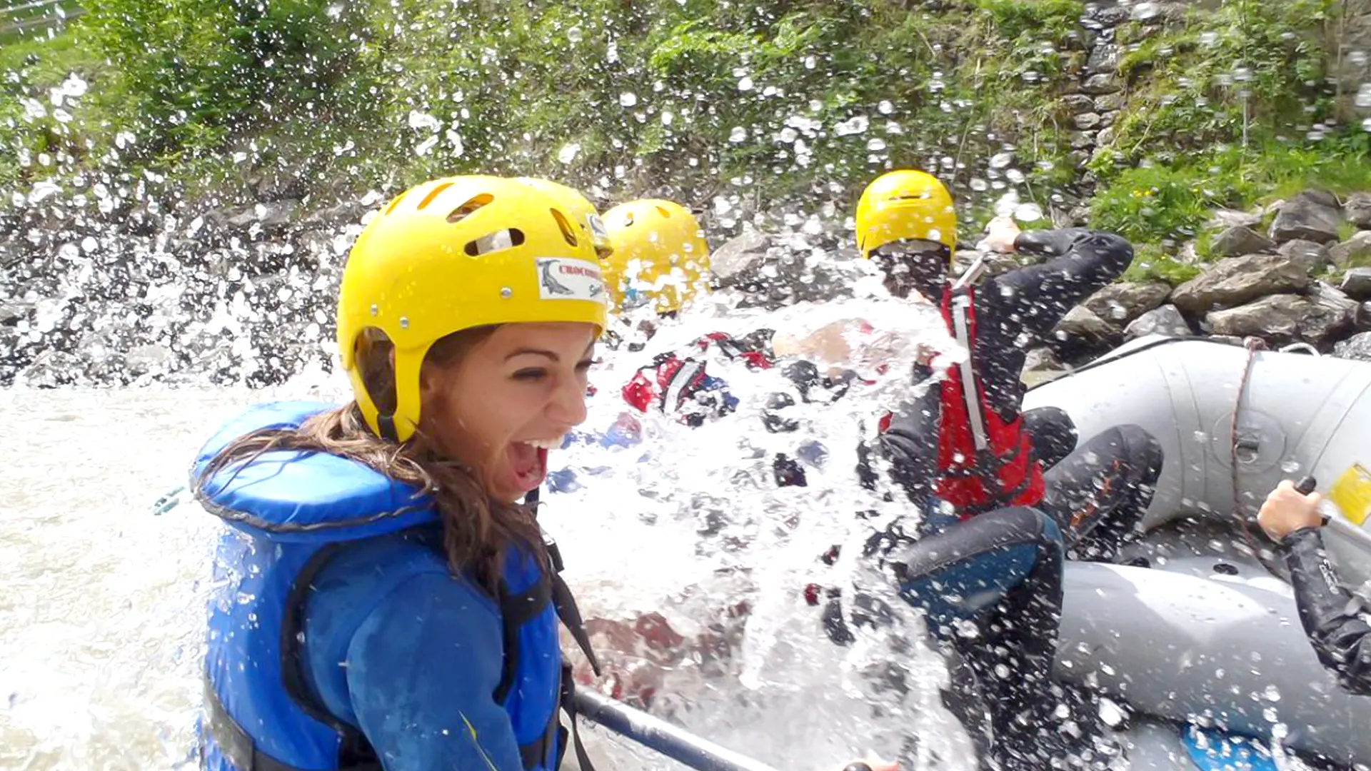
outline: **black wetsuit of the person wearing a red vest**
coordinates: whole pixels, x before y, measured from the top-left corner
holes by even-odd
[[[1050,259],[991,277],[975,292],[972,366],[988,406],[1006,423],[1021,410],[1027,350],[1046,342],[1068,310],[1117,278],[1132,258],[1123,239],[1090,230],[1023,233],[1016,248]],[[916,284],[920,294],[941,296],[941,270],[923,278]],[[914,380],[927,375],[916,372]],[[1123,425],[1076,449],[1075,427],[1063,410],[1031,410],[1023,416],[1024,429],[1035,457],[1050,466],[1042,502],[930,524],[939,405],[936,388],[930,388],[877,439],[876,453],[917,514],[872,538],[866,556],[883,565],[906,602],[927,612],[930,631],[953,667],[945,701],[979,739],[983,763],[1004,771],[1046,768],[1049,759],[1078,748],[1058,730],[1058,705],[1078,722],[1089,722],[1093,712],[1079,694],[1052,680],[1064,551],[1100,558],[1117,549],[1152,499],[1161,447],[1143,429]],[[871,454],[862,450],[858,469],[868,486],[876,484]],[[828,560],[835,557],[831,551]],[[824,627],[835,642],[853,639],[847,619],[861,624],[886,616],[854,587],[845,619],[839,594],[829,590],[824,608]],[[967,635],[965,621],[979,634]]]

